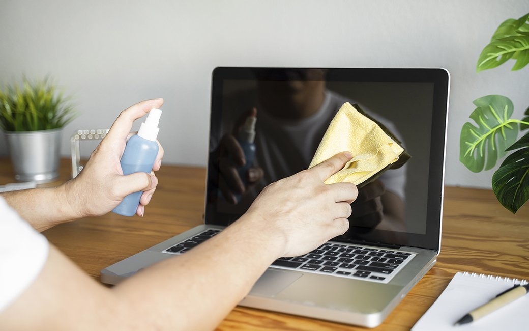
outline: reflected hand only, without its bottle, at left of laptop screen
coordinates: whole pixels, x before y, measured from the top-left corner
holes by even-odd
[[[220,142],[220,157],[218,160],[220,178],[218,180],[218,188],[224,198],[233,204],[238,202],[238,195],[246,192],[264,175],[262,168],[247,165],[248,160],[245,159],[244,151],[236,139],[246,119],[256,116],[256,108],[242,113],[235,122],[232,132],[224,135]]]

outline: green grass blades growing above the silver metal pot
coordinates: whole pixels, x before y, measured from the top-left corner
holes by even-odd
[[[0,128],[4,131],[58,129],[75,118],[69,97],[65,97],[49,78],[21,85],[7,84],[0,91]]]

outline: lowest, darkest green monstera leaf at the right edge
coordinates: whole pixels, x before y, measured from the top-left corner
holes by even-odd
[[[529,133],[507,150],[515,150],[507,156],[492,175],[492,190],[498,201],[512,213],[516,213],[529,200]]]

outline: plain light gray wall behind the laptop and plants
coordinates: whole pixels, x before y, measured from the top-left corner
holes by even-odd
[[[0,0],[0,86],[51,74],[81,112],[66,136],[109,127],[130,104],[162,96],[165,162],[205,165],[216,66],[444,67],[452,77],[446,184],[490,187],[492,171],[459,163],[459,133],[477,97],[510,97],[518,118],[529,106],[528,68],[475,73],[497,25],[527,12],[526,0]]]

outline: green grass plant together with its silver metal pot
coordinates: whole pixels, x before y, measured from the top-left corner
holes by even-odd
[[[0,128],[17,181],[50,182],[59,176],[63,127],[76,113],[49,78],[7,84],[0,91]]]

